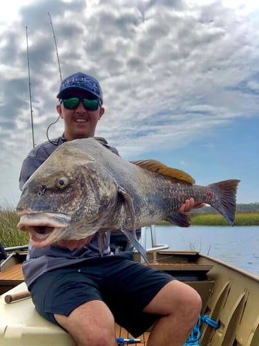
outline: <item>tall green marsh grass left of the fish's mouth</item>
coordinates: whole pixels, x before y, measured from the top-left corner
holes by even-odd
[[[15,210],[0,210],[0,242],[4,248],[28,244],[28,234],[17,230],[19,217]]]

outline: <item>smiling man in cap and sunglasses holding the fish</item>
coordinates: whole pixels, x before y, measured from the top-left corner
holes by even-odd
[[[90,75],[70,75],[57,98],[64,134],[28,154],[21,189],[58,145],[95,136],[104,116],[102,89]],[[117,154],[106,140],[102,143]],[[187,200],[180,211],[193,206],[193,199]],[[129,260],[125,253],[111,255],[108,237],[100,257],[98,237],[30,246],[23,273],[37,311],[68,331],[78,346],[115,346],[115,321],[135,337],[154,324],[148,346],[182,346],[198,320],[198,293],[171,275]]]

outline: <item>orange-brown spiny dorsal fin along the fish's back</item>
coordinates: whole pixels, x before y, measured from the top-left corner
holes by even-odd
[[[186,183],[194,184],[195,180],[186,172],[182,170],[178,170],[177,168],[171,168],[164,163],[156,160],[139,160],[139,161],[131,161],[134,165],[137,165],[145,170],[149,170],[151,172],[156,172],[165,176],[171,176],[171,178],[182,180]]]

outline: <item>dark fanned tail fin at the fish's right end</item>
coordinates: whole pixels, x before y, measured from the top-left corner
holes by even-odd
[[[236,192],[239,182],[238,179],[231,179],[209,185],[216,194],[213,202],[209,204],[218,210],[231,226],[234,226],[236,216]]]

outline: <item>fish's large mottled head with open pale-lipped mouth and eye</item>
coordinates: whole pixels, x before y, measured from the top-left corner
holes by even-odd
[[[24,185],[17,227],[38,248],[85,239],[101,228],[116,202],[117,185],[105,167],[84,153],[59,150]]]

